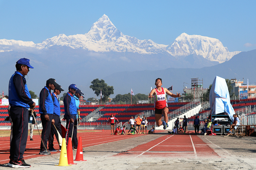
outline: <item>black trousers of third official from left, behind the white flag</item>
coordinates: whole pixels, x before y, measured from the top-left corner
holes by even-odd
[[[60,127],[60,125],[61,125],[60,116],[58,116],[58,115],[52,115],[52,117],[53,117],[52,119],[54,119],[54,125],[55,125],[56,129],[57,129],[58,132],[60,133],[60,136],[62,136],[62,134],[61,134],[61,127]],[[58,135],[58,132],[57,132],[57,130],[55,129],[55,127],[54,127],[53,124],[52,124],[52,126],[51,126],[50,138],[49,138],[49,141],[48,141],[48,147],[49,147],[49,148],[52,148],[52,147],[53,147],[54,135],[55,135],[55,137],[56,137],[56,139],[57,139],[57,141],[58,141],[58,143],[59,143],[59,135]],[[60,140],[62,140],[62,139],[60,139]],[[60,143],[59,143],[59,144],[60,144]]]

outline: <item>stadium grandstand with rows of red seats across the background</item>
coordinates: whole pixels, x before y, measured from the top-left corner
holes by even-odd
[[[169,120],[174,120],[176,117],[182,114],[175,114],[177,111],[182,110],[183,107],[186,107],[191,102],[176,102],[176,103],[168,103],[169,108]],[[253,99],[244,99],[244,100],[230,100],[235,112],[239,115],[247,114],[247,115],[255,115],[256,111],[256,98]],[[39,106],[36,106],[35,111],[37,114],[36,122],[38,124],[41,123],[40,114],[39,114]],[[0,106],[0,126],[9,127],[11,123],[9,121],[4,121],[4,119],[8,116],[7,111],[8,106]],[[64,117],[64,106],[60,106],[61,111],[61,121],[62,125],[65,125]],[[155,107],[154,104],[113,104],[113,105],[79,105],[80,110],[80,127],[88,128],[88,129],[97,129],[97,128],[110,128],[110,123],[108,123],[108,119],[113,114],[118,120],[119,125],[124,125],[129,122],[131,116],[137,117],[147,116],[149,126],[155,125]],[[185,110],[187,111],[187,110]],[[208,119],[211,114],[210,104],[209,102],[202,103],[201,109],[199,112],[193,114],[188,118],[188,126],[193,126],[193,121],[197,116],[200,119],[201,125],[203,124],[204,119]],[[182,122],[183,116],[180,117],[180,124]],[[120,124],[121,123],[121,124]],[[255,123],[255,122],[254,122]],[[117,123],[116,123],[117,125]],[[1,128],[2,129],[2,128]],[[8,128],[7,128],[8,129]]]

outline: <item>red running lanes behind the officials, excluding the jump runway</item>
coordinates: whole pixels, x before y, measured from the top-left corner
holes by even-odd
[[[161,131],[158,130],[157,132],[162,132],[162,130]],[[144,136],[144,134],[140,134],[139,136]],[[98,132],[77,133],[77,138],[78,137],[82,137],[83,147],[87,147],[87,146],[92,146],[97,144],[103,144],[103,143],[128,139],[132,137],[138,137],[138,135],[110,135],[110,130],[104,130],[104,132],[100,130]],[[26,146],[27,151],[23,155],[24,159],[44,156],[44,155],[38,154],[40,151],[40,143],[41,143],[41,139],[39,135],[34,135],[33,139],[34,141],[30,141],[28,136],[28,141]],[[59,149],[59,145],[55,137],[54,137],[53,144],[55,149]],[[10,148],[10,137],[0,137],[0,164],[5,164],[9,162],[9,156],[10,156],[9,148]],[[60,152],[58,151],[58,152],[51,152],[51,153],[55,154]]]

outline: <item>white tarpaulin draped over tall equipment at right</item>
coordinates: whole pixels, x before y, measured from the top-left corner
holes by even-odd
[[[212,109],[212,115],[227,112],[231,121],[234,121],[233,115],[236,113],[230,104],[228,86],[224,78],[216,76],[213,80],[209,102]]]

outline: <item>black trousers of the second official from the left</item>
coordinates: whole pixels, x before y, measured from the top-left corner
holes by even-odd
[[[50,138],[50,133],[51,133],[51,127],[52,127],[52,114],[48,114],[49,116],[49,121],[44,119],[44,114],[41,114],[41,121],[42,121],[42,140],[44,141],[45,147],[47,147],[47,141]],[[40,149],[41,151],[45,151],[43,142],[41,141]]]

